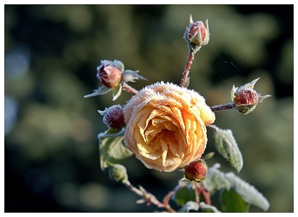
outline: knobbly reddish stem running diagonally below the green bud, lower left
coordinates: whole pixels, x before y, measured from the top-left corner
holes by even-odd
[[[143,203],[147,202],[147,205],[149,206],[151,203],[156,205],[159,208],[165,208],[167,209],[170,213],[176,213],[175,210],[171,208],[171,206],[167,203],[162,203],[153,194],[148,193],[145,189],[143,189],[141,186],[139,187],[140,189],[137,189],[134,187],[128,180],[124,181],[123,184],[130,189],[132,192],[136,193],[137,195],[141,196],[143,199],[138,200],[138,203]]]

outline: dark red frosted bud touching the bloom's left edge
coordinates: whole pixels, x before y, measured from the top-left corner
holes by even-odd
[[[113,105],[105,110],[98,112],[103,115],[103,123],[109,128],[122,129],[125,126],[124,114],[121,105]]]

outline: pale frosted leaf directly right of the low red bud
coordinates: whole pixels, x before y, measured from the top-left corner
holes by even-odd
[[[226,179],[225,174],[218,170],[220,164],[214,164],[212,167],[209,167],[206,179],[202,182],[204,189],[209,192],[214,192],[221,188],[230,189],[231,184],[229,180]]]

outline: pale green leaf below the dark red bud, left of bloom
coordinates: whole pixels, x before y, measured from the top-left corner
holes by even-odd
[[[123,141],[125,128],[117,134],[98,134],[100,168],[105,170],[108,163],[119,164],[133,153],[126,148]]]

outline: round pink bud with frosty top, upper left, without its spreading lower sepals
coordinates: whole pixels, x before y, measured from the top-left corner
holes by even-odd
[[[102,60],[97,66],[97,77],[100,82],[108,88],[115,88],[121,81],[124,66],[121,61]],[[122,68],[123,66],[123,68]]]

